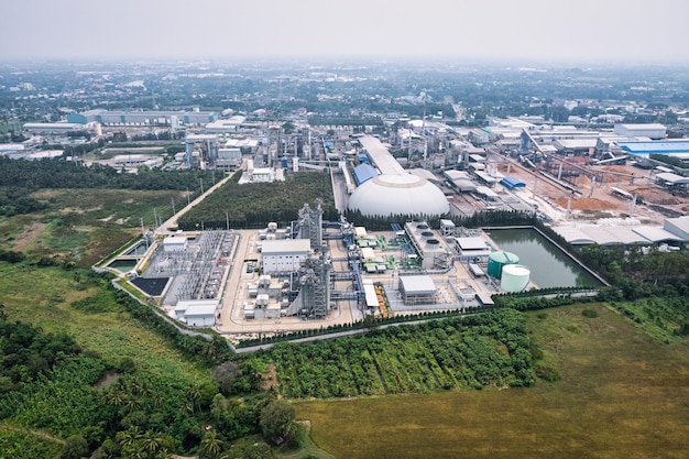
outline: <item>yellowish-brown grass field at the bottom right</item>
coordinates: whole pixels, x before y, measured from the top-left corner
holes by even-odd
[[[527,316],[556,383],[303,402],[297,417],[338,459],[687,457],[687,340],[658,343],[604,305]]]

